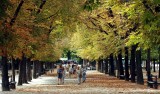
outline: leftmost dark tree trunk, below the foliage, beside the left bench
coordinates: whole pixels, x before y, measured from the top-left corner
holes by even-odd
[[[2,56],[2,91],[9,91],[8,63],[7,57]]]

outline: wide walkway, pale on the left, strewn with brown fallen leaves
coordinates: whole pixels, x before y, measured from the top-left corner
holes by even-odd
[[[87,80],[81,85],[75,77],[66,77],[64,85],[57,85],[55,72],[49,72],[29,84],[16,86],[16,90],[0,94],[160,94],[160,88],[151,89],[97,71],[87,71]]]

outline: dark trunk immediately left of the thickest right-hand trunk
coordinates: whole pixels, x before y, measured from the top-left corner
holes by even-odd
[[[131,47],[131,82],[135,83],[135,51],[136,51],[136,46],[133,45]]]

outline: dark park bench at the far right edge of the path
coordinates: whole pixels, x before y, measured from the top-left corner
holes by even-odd
[[[157,75],[150,75],[151,76],[151,81],[147,81],[147,85],[150,88],[158,89],[158,85],[160,84],[157,81]]]

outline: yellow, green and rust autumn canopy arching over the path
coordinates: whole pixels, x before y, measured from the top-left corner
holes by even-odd
[[[159,0],[5,0],[0,55],[56,61],[65,49],[89,60],[124,47],[160,47]]]

